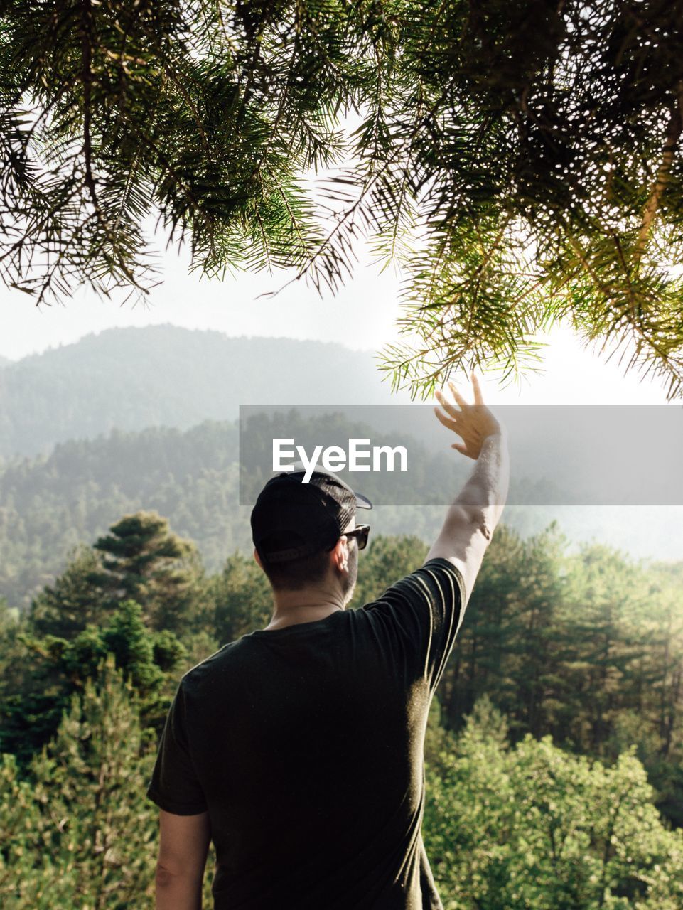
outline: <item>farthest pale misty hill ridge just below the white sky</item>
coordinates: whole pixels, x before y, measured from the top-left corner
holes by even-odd
[[[0,378],[0,458],[110,430],[236,420],[240,404],[387,404],[371,352],[330,342],[228,338],[149,326],[108,329],[8,363]]]

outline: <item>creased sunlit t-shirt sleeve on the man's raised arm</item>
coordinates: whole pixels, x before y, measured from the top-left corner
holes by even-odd
[[[434,691],[456,641],[465,612],[465,582],[445,559],[429,560],[400,579],[363,610],[378,611],[415,662],[417,675],[427,676]]]

